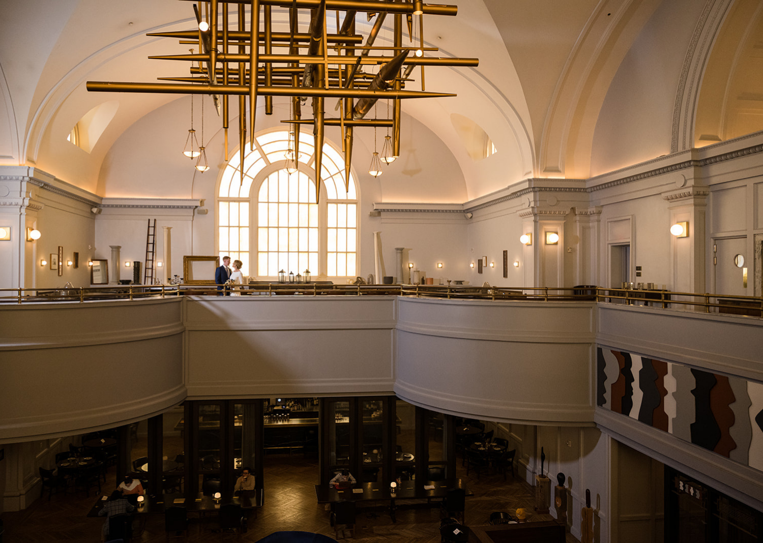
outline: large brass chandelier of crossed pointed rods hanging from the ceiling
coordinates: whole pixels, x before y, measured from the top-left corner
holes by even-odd
[[[255,132],[257,97],[264,97],[265,113],[270,115],[273,112],[272,97],[288,96],[291,98],[291,111],[288,120],[282,122],[289,124],[289,130],[296,133],[301,124],[313,125],[316,201],[320,195],[320,149],[324,146],[325,127],[339,126],[342,130],[347,185],[355,127],[391,128],[392,149],[385,156],[399,156],[401,100],[455,96],[443,92],[426,92],[424,66],[478,66],[479,63],[475,58],[421,55],[421,51],[436,51],[436,48],[423,47],[424,15],[455,16],[458,11],[455,5],[427,5],[420,0],[210,0],[199,4],[201,11],[196,4],[193,5],[198,23],[194,30],[148,34],[179,39],[180,43],[198,43],[198,54],[149,57],[189,63],[188,76],[159,78],[172,83],[89,81],[87,89],[95,92],[211,95],[217,114],[223,118],[226,159],[229,101],[231,97],[237,97],[242,165],[247,131],[251,135]],[[237,29],[230,27],[231,5],[238,8]],[[250,7],[248,20],[246,5]],[[274,6],[288,11],[288,29],[283,32],[273,30]],[[336,34],[327,31],[327,19],[332,16],[332,11],[335,12],[336,28],[339,28]],[[356,15],[362,13],[366,14],[368,21],[375,18],[365,37],[356,34]],[[375,47],[375,39],[388,16],[392,18],[393,43],[391,47]],[[417,35],[414,35],[416,16],[419,21],[415,33]],[[307,33],[298,32],[300,20],[310,21]],[[412,42],[409,47],[403,45],[404,23]],[[255,47],[253,44],[256,44]],[[274,49],[277,52],[274,53]],[[414,53],[410,57],[409,51]],[[372,74],[364,70],[368,66],[380,67],[376,74]],[[405,90],[405,83],[410,81],[409,77],[416,66],[421,66],[421,91]],[[312,99],[313,118],[303,119],[301,106],[307,98]],[[342,107],[337,117],[326,116],[326,98],[341,100]],[[248,118],[247,99],[250,104]],[[393,101],[391,119],[365,119],[365,114],[379,99]],[[250,146],[253,149],[253,139],[250,139]],[[299,137],[295,137],[294,146],[295,156],[299,156]],[[241,179],[243,182],[243,168]]]

